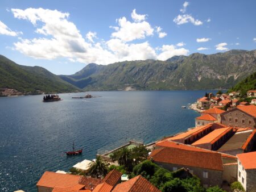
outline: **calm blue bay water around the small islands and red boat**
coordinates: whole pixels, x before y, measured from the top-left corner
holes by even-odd
[[[0,98],[0,191],[36,191],[46,171],[68,171],[97,150],[113,149],[130,139],[150,143],[187,130],[199,114],[182,109],[205,91],[102,91],[99,98],[43,103],[42,95]],[[84,148],[81,156],[64,151]]]

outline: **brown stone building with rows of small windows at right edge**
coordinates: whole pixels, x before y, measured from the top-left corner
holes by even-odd
[[[256,106],[247,105],[232,108],[221,114],[221,124],[230,127],[256,128]]]

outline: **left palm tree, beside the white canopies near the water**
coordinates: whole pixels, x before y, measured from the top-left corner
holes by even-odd
[[[105,177],[106,174],[108,174],[109,172],[109,163],[106,162],[105,160],[102,160],[102,158],[100,156],[96,157],[96,161],[95,162],[90,162],[89,164],[90,168],[88,170],[88,174],[91,177]]]

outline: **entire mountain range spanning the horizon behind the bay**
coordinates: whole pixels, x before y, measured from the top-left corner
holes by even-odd
[[[166,61],[88,64],[70,76],[57,76],[39,66],[22,66],[0,56],[0,87],[24,94],[81,90],[228,89],[256,72],[256,50],[174,56]],[[1,90],[0,90],[1,92]]]

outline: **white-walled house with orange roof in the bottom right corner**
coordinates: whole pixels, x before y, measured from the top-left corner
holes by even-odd
[[[249,192],[256,192],[256,152],[237,155],[238,181]]]

